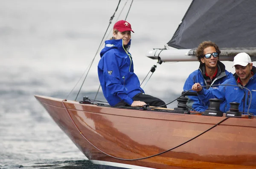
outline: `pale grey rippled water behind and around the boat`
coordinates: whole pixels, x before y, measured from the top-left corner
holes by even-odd
[[[145,57],[146,51],[161,48],[171,39],[190,2],[134,0],[127,20],[135,32],[130,52],[140,80],[156,63]],[[90,65],[117,3],[0,0],[0,169],[97,168],[34,95],[67,97]],[[116,13],[113,22],[125,18],[130,3],[119,18]],[[98,60],[96,57],[78,100],[95,96]],[[168,103],[180,94],[186,77],[197,68],[198,63],[162,64],[144,89]],[[74,100],[83,78],[68,99]],[[103,99],[101,93],[98,99]]]

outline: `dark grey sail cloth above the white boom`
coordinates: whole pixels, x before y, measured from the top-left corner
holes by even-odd
[[[256,0],[193,0],[167,44],[192,49],[205,40],[220,48],[256,47]]]

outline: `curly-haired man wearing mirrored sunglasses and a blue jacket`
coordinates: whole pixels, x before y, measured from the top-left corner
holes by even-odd
[[[219,61],[221,51],[218,46],[211,41],[204,41],[199,44],[196,51],[198,61],[200,62],[198,70],[195,70],[186,79],[183,91],[191,89],[195,83],[201,84],[205,89],[209,89],[209,85],[217,85],[225,80],[232,78],[233,74],[225,69],[225,65]],[[214,88],[216,86],[213,86]],[[187,106],[192,107],[195,111],[204,112],[208,109],[208,105],[198,99],[197,96],[188,96]],[[226,103],[221,104],[221,110],[224,110]]]

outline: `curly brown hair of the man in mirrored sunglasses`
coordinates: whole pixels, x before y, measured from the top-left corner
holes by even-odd
[[[200,63],[202,63],[201,58],[204,57],[204,49],[209,47],[209,46],[214,47],[216,49],[216,52],[218,53],[218,57],[220,57],[219,55],[221,53],[221,50],[218,48],[218,46],[210,40],[209,41],[204,41],[204,42],[199,44],[198,49],[196,50],[196,57],[198,58],[198,61]]]

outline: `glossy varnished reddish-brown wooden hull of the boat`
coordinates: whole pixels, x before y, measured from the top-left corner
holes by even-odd
[[[229,118],[172,149],[225,117],[116,109],[35,97],[94,163],[121,163],[127,168],[133,165],[155,169],[256,169],[256,119]],[[131,160],[168,149],[172,150]]]

